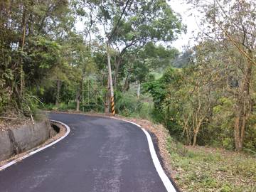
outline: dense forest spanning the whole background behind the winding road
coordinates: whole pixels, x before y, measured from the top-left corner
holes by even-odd
[[[255,153],[256,3],[188,4],[201,32],[180,53],[171,42],[186,26],[165,0],[0,1],[0,116],[109,112],[110,43],[117,114],[183,144]]]

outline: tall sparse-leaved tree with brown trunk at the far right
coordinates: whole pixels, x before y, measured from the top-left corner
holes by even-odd
[[[235,148],[242,150],[247,121],[252,114],[252,81],[255,69],[255,9],[254,1],[219,1],[205,4],[196,1],[196,6],[206,13],[203,31],[206,38],[215,39],[229,54],[228,68],[235,70],[238,87],[226,89],[235,98],[234,138]],[[227,80],[227,82],[229,82]]]

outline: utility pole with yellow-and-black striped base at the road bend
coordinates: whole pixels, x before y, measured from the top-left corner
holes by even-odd
[[[111,71],[111,63],[110,63],[110,43],[107,42],[107,69],[109,73],[109,81],[110,81],[110,103],[111,103],[111,112],[114,115],[114,89],[112,82],[112,71]]]

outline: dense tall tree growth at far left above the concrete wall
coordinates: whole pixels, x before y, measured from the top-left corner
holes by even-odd
[[[67,24],[63,33],[70,29],[63,19],[70,14],[69,8],[64,0],[1,1],[0,51],[4,56],[0,75],[3,92],[8,90],[4,94],[8,109],[15,109],[18,114],[31,113],[25,112],[31,108],[26,105],[28,100],[34,98],[29,96],[31,90],[58,63],[60,46],[54,38],[63,22]]]

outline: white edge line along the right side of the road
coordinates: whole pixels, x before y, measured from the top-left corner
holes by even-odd
[[[119,119],[119,118],[116,118],[116,117],[110,117],[112,119]],[[134,122],[130,122],[130,121],[127,121],[127,120],[124,120],[124,119],[119,119],[119,120],[122,120],[124,122],[129,122],[131,124],[134,124],[136,125],[137,127],[141,128],[142,131],[144,132],[144,134],[146,134],[146,139],[149,143],[149,151],[150,151],[150,154],[151,154],[151,158],[153,160],[153,163],[154,163],[154,166],[156,168],[156,171],[157,173],[159,174],[159,177],[161,178],[161,181],[164,183],[164,186],[167,190],[167,192],[176,192],[176,189],[174,188],[173,184],[171,183],[170,179],[168,178],[168,176],[166,176],[165,172],[164,172],[164,169],[162,168],[161,164],[160,164],[160,161],[156,155],[156,150],[154,149],[154,144],[152,142],[152,139],[151,139],[151,136],[149,134],[149,132],[147,132],[144,128],[142,128],[142,126],[140,126],[139,124],[136,124]]]

